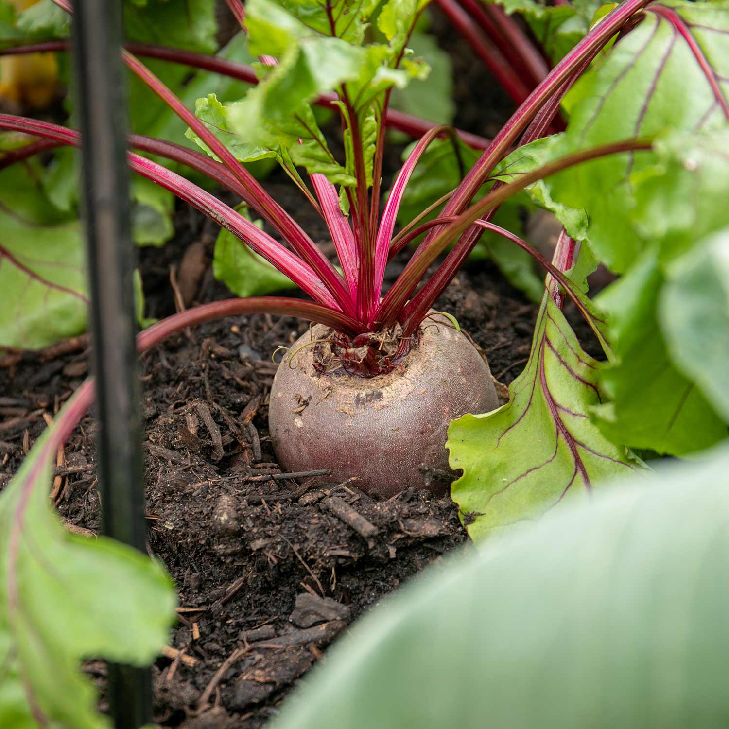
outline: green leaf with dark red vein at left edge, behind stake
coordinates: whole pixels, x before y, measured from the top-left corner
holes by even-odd
[[[0,346],[40,348],[85,330],[87,285],[79,222],[56,210],[38,165],[0,171]]]

